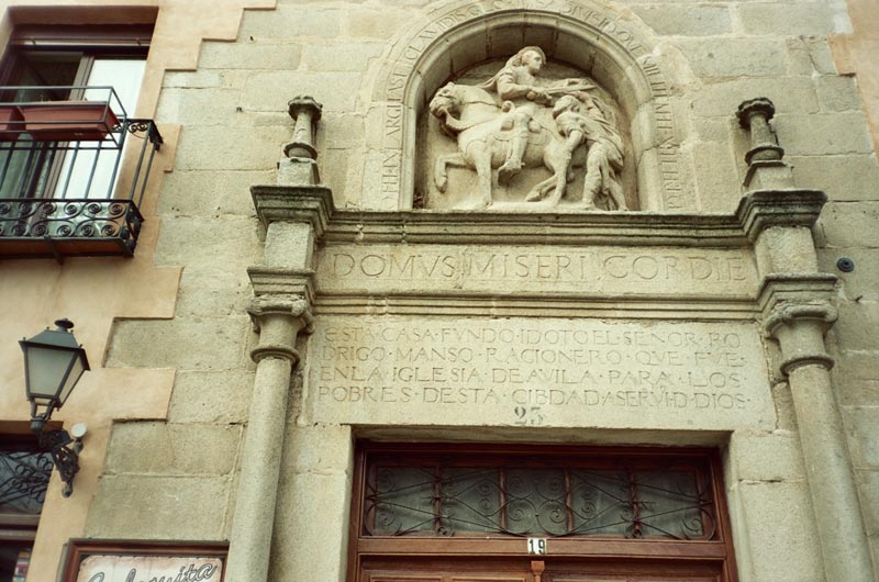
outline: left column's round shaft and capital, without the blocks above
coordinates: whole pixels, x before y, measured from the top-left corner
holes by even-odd
[[[230,538],[230,582],[268,579],[290,374],[299,361],[296,338],[313,321],[301,299],[256,298],[248,312],[259,344],[251,352],[256,379]]]

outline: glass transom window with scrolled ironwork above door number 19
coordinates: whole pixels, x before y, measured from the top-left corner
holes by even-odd
[[[661,455],[372,455],[364,535],[710,540],[709,472],[704,459]]]

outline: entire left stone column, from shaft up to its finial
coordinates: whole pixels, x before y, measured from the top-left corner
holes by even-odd
[[[314,128],[321,105],[310,97],[290,101],[293,137],[283,146],[275,186],[251,194],[266,227],[263,264],[247,269],[255,299],[248,312],[259,331],[252,356],[256,380],[235,500],[226,580],[266,582],[278,497],[294,346],[311,332],[314,246],[333,212],[332,192],[319,186]]]

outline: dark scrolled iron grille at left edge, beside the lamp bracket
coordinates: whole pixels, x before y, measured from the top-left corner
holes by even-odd
[[[0,512],[40,515],[52,475],[52,455],[0,450]]]

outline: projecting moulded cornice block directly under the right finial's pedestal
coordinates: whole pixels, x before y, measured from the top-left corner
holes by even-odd
[[[735,215],[750,242],[772,226],[805,226],[817,221],[827,194],[821,190],[754,190],[742,198]]]

